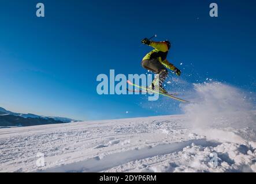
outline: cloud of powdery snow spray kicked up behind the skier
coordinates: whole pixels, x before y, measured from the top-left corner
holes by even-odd
[[[191,93],[193,103],[181,105],[181,108],[196,133],[208,139],[218,137],[222,141],[244,143],[236,132],[224,129],[256,130],[253,103],[245,91],[224,83],[210,82],[195,84]],[[255,132],[251,133],[250,138],[255,139]]]

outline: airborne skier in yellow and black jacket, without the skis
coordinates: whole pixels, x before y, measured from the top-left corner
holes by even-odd
[[[177,76],[180,76],[181,74],[181,71],[178,68],[166,60],[171,46],[170,42],[168,40],[155,42],[145,38],[142,40],[142,43],[154,48],[153,51],[147,53],[147,55],[143,57],[142,67],[159,76],[158,78],[155,78],[152,84],[147,88],[151,90],[159,90],[161,93],[167,94],[168,92],[162,87],[162,84],[168,75],[168,70],[166,68],[174,71]]]

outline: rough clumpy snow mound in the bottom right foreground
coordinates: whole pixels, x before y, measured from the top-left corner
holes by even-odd
[[[217,154],[216,163],[212,162],[213,153]],[[255,156],[256,150],[245,145],[195,142],[181,151],[135,160],[105,172],[255,172]]]

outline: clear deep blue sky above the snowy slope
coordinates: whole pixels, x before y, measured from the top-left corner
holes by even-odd
[[[150,48],[140,40],[155,33],[155,40],[172,41],[168,60],[183,63],[181,79],[213,78],[255,91],[255,1],[214,1],[218,18],[209,16],[213,1],[40,2],[44,18],[36,17],[38,1],[0,2],[3,108],[80,120],[179,113],[159,108],[164,99],[149,108],[141,95],[96,91],[97,75],[110,69],[145,73],[140,61]]]

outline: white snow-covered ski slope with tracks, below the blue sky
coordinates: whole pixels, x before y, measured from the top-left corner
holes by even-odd
[[[0,172],[255,172],[255,138],[248,127],[196,131],[185,115],[3,128]]]

